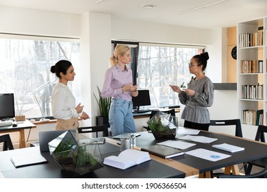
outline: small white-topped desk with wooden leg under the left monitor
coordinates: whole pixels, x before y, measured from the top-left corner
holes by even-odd
[[[12,125],[0,127],[0,133],[19,132],[19,147],[24,148],[26,147],[24,130],[31,129],[31,128],[36,128],[36,125],[26,120],[26,121],[23,121],[23,123],[18,123],[18,126],[14,128],[12,127]]]

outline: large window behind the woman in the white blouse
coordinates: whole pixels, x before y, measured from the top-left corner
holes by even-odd
[[[14,93],[16,115],[51,117],[51,94],[58,77],[50,68],[58,60],[70,60],[79,73],[79,54],[77,39],[1,35],[0,93]],[[68,84],[77,100],[79,76]]]

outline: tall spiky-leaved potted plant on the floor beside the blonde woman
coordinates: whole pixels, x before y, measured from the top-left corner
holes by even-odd
[[[97,91],[99,93],[98,98],[94,94],[94,98],[97,100],[97,104],[100,110],[100,116],[97,116],[97,125],[110,125],[108,123],[108,114],[110,112],[110,105],[112,102],[112,97],[103,98],[101,96],[101,91],[100,91],[99,86],[97,86]]]

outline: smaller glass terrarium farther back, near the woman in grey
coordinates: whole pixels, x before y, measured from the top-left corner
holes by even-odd
[[[166,112],[159,111],[147,121],[147,125],[149,125],[155,139],[175,138],[178,128],[178,118]]]

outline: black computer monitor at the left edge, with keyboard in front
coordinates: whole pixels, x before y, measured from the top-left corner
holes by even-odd
[[[10,119],[14,117],[14,93],[0,93],[0,119]]]

